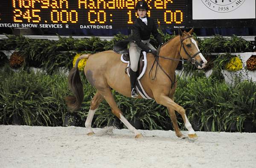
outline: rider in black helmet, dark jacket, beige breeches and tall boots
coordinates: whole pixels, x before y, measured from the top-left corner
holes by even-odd
[[[147,16],[148,4],[144,0],[140,0],[137,2],[135,9],[139,17],[132,25],[132,35],[129,38],[131,97],[138,96],[135,85],[137,81],[140,51],[143,50],[147,53],[151,52],[154,55],[157,54],[156,48],[149,43],[151,33],[160,45],[163,44],[153,18]]]

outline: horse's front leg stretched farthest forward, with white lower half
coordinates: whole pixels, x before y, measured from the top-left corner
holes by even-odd
[[[189,134],[188,134],[189,138],[193,139],[193,140],[196,140],[198,138],[197,135],[195,134],[194,129],[192,128],[192,125],[190,124],[190,122],[186,116],[186,111],[183,107],[181,107],[180,105],[175,103],[170,97],[168,97],[164,94],[161,94],[161,95],[155,97],[155,100],[158,104],[164,105],[167,108],[172,108],[175,111],[177,111],[181,115],[181,117],[185,123],[185,127],[189,131]]]

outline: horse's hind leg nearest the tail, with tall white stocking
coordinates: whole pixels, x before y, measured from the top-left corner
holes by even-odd
[[[92,127],[91,127],[93,115],[94,115],[95,111],[97,110],[97,108],[99,107],[99,104],[102,102],[102,100],[103,100],[102,95],[99,93],[99,91],[97,91],[96,94],[94,95],[93,99],[91,100],[90,110],[89,110],[89,113],[88,113],[86,121],[85,121],[87,135],[94,134]]]

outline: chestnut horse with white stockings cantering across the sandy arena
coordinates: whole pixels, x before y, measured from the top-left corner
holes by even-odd
[[[198,136],[186,116],[185,109],[174,102],[175,89],[177,88],[175,69],[179,61],[181,61],[180,59],[186,59],[195,64],[197,68],[204,68],[207,64],[207,60],[199,51],[196,40],[191,35],[193,30],[194,28],[186,32],[178,29],[179,34],[172,40],[164,43],[158,50],[159,54],[157,56],[147,53],[148,66],[140,81],[148,96],[154,98],[156,103],[167,107],[176,136],[181,139],[189,138],[196,140]],[[91,128],[93,115],[99,104],[105,99],[110,105],[112,113],[134,133],[135,138],[143,137],[143,135],[125,119],[111,93],[111,89],[114,89],[126,97],[131,97],[130,79],[125,73],[127,65],[121,62],[120,56],[121,54],[115,53],[112,50],[102,51],[96,54],[82,54],[76,60],[74,68],[70,70],[68,84],[74,96],[67,96],[65,100],[71,111],[79,109],[84,99],[83,84],[78,69],[78,63],[81,59],[87,58],[84,74],[88,82],[97,90],[90,102],[90,109],[85,122],[87,135],[94,134]],[[156,64],[160,68],[157,68]],[[150,77],[152,76],[150,71],[155,72],[153,75],[155,76],[154,80]],[[139,95],[137,98],[142,97]],[[175,111],[182,116],[185,127],[189,131],[188,137],[181,133],[177,124]]]

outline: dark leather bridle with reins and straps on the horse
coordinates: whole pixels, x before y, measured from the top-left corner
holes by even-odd
[[[156,67],[154,78],[151,78],[151,77],[150,77],[150,73],[151,73],[151,71],[152,71],[152,69],[153,69],[153,67],[154,67],[154,64],[157,63],[157,66],[159,66],[160,69],[163,71],[163,73],[166,74],[166,76],[169,78],[169,80],[171,80],[172,86],[178,81],[178,80],[175,81],[176,74],[174,73],[174,82],[172,82],[172,78],[169,76],[169,74],[166,73],[166,71],[163,69],[163,67],[159,64],[159,57],[160,57],[160,58],[163,58],[163,59],[167,59],[167,60],[186,61],[186,62],[190,62],[190,63],[192,63],[192,64],[197,63],[199,66],[202,66],[201,63],[198,63],[198,62],[195,61],[196,55],[199,54],[199,53],[201,53],[201,51],[198,51],[198,52],[196,52],[195,54],[193,54],[193,55],[191,56],[191,55],[186,51],[186,48],[184,47],[183,41],[186,40],[187,38],[190,38],[190,37],[192,37],[192,36],[188,36],[188,37],[186,37],[186,38],[184,38],[184,39],[181,39],[181,36],[180,36],[180,50],[179,50],[179,56],[181,57],[180,51],[181,51],[181,47],[182,47],[183,50],[184,50],[184,52],[186,53],[186,55],[189,57],[188,60],[180,60],[180,59],[176,59],[176,58],[169,58],[169,57],[164,57],[164,56],[160,56],[160,55],[159,55],[160,48],[161,48],[162,46],[165,46],[170,40],[167,41],[166,43],[164,43],[163,45],[161,45],[161,46],[159,46],[159,47],[157,48],[157,55],[154,55],[155,60],[154,60],[154,63],[153,63],[153,65],[152,65],[152,67],[151,67],[151,69],[150,69],[150,71],[149,71],[149,74],[148,74],[148,76],[149,76],[149,78],[150,78],[151,80],[154,80],[154,79],[156,78],[156,76],[157,76],[157,67]],[[172,40],[172,39],[171,39],[171,40]],[[183,73],[183,71],[181,72],[181,74],[182,74],[182,73]],[[180,74],[180,77],[181,77],[181,74]],[[180,78],[180,77],[179,77],[179,78]],[[171,86],[171,88],[172,88],[172,86]]]

